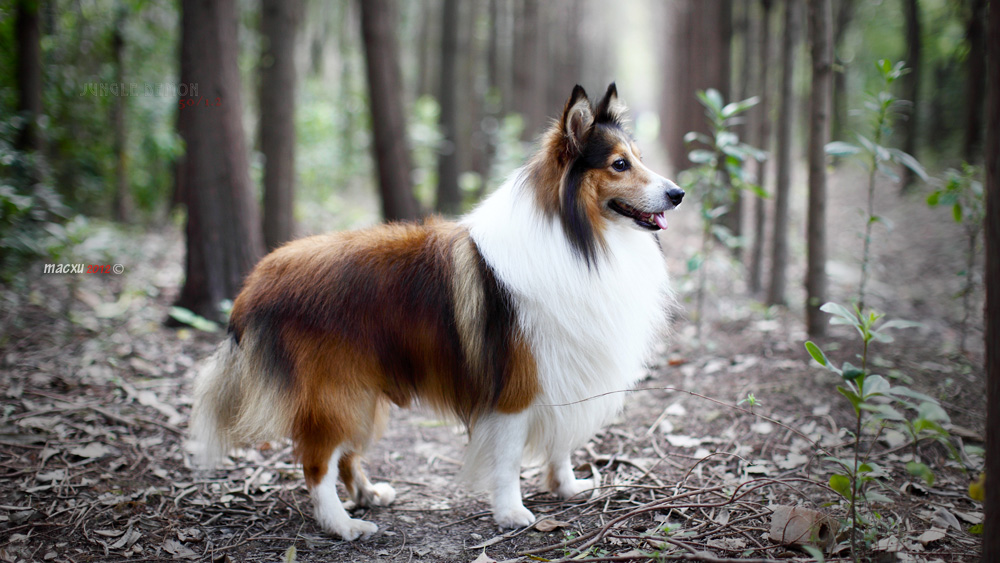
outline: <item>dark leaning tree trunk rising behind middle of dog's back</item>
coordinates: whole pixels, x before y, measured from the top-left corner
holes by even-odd
[[[382,215],[387,221],[415,219],[420,210],[413,196],[413,165],[403,112],[396,3],[394,0],[359,0],[359,3]]]

